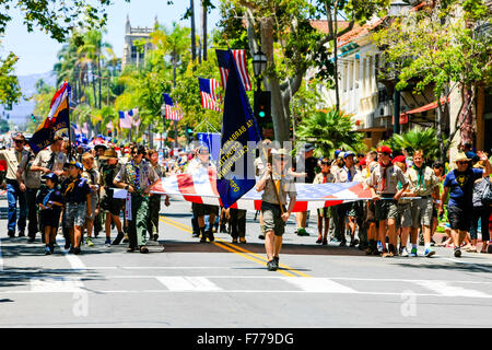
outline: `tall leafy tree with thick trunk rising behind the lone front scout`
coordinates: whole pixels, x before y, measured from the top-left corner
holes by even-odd
[[[234,37],[242,37],[246,32],[249,52],[256,52],[261,47],[266,54],[268,66],[265,71],[266,89],[271,91],[272,118],[276,138],[279,141],[290,139],[292,122],[292,97],[297,93],[308,69],[315,68],[325,81],[333,78],[333,65],[328,59],[331,54],[326,45],[336,38],[314,30],[309,20],[323,15],[318,2],[307,0],[223,0],[241,8],[244,12],[246,26]],[[380,1],[376,1],[377,3]],[[372,0],[361,3],[350,1],[345,9],[347,14],[359,13],[360,7],[367,7]],[[341,10],[340,10],[341,11]],[[234,11],[230,12],[234,15]],[[368,18],[371,11],[366,11]],[[362,20],[354,16],[354,21]],[[224,21],[224,24],[236,24],[234,21]],[[345,31],[337,35],[342,35]],[[231,31],[223,31],[231,33]],[[227,37],[223,39],[229,40]],[[327,51],[327,52],[325,52]],[[321,52],[321,54],[320,54]]]

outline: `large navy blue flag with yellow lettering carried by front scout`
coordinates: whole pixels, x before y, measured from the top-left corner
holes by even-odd
[[[241,82],[239,71],[235,60],[231,59],[216,175],[216,190],[225,209],[255,186],[254,160],[260,140],[260,131]]]

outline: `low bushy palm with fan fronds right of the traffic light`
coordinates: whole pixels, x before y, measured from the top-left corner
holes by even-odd
[[[356,151],[362,145],[363,135],[353,131],[351,116],[336,108],[316,112],[298,125],[297,137],[315,142],[315,153],[333,156],[335,150]]]

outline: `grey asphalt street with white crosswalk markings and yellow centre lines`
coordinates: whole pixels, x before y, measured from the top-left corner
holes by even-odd
[[[4,203],[4,202],[3,202]],[[150,254],[105,247],[104,236],[51,256],[37,236],[9,238],[0,222],[0,327],[481,327],[492,311],[492,258],[436,248],[432,258],[365,256],[316,245],[289,220],[277,271],[268,271],[259,224],[248,212],[247,244],[191,236],[190,205],[161,210]],[[115,232],[113,232],[115,235]],[[422,247],[419,247],[422,250]]]

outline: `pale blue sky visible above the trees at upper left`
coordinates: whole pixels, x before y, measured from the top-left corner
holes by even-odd
[[[107,33],[104,40],[113,46],[116,56],[122,56],[125,39],[125,23],[129,15],[131,26],[152,27],[155,15],[161,24],[171,26],[173,21],[181,25],[190,26],[190,20],[179,21],[189,5],[188,0],[174,0],[174,4],[168,5],[167,0],[131,0],[130,3],[124,0],[114,0],[110,7],[106,8],[108,14]],[[218,5],[218,1],[213,1]],[[199,1],[195,1],[195,24],[197,30],[201,26],[201,9]],[[36,28],[33,33],[27,33],[22,23],[20,12],[12,12],[13,20],[9,23],[5,35],[1,38],[0,57],[5,57],[9,51],[19,56],[15,65],[17,75],[28,75],[45,73],[52,69],[57,61],[57,52],[62,44],[51,39],[48,34]],[[212,10],[208,16],[209,33],[219,22],[219,9]],[[198,32],[197,32],[198,34]]]

